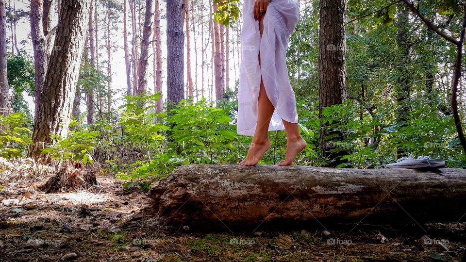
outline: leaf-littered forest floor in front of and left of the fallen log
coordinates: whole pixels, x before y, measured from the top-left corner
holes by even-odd
[[[53,172],[0,170],[0,261],[462,261],[465,253],[465,223],[169,232],[139,215],[146,193],[110,175],[95,192],[41,193]]]

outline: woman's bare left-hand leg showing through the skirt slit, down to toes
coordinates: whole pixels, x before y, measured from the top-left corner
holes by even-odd
[[[259,20],[259,31],[261,32],[261,36],[262,32],[264,31],[263,21],[264,15],[262,15]],[[259,52],[259,66],[260,64],[261,56]],[[238,162],[240,165],[256,165],[271,146],[270,139],[268,138],[268,126],[270,124],[270,120],[272,119],[274,107],[267,97],[266,89],[262,79],[259,98],[257,99],[257,106],[256,130],[254,131],[254,136],[252,137],[252,143],[249,147],[248,156],[246,156],[243,161]]]

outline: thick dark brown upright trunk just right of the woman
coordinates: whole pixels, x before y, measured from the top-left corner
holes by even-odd
[[[319,118],[324,107],[341,104],[347,98],[346,91],[346,21],[345,0],[320,0],[319,26]],[[340,152],[330,153],[333,141],[342,140],[336,132],[332,141],[326,139],[333,134],[327,131],[325,123],[320,123],[322,156],[333,160],[330,166],[341,163]]]

